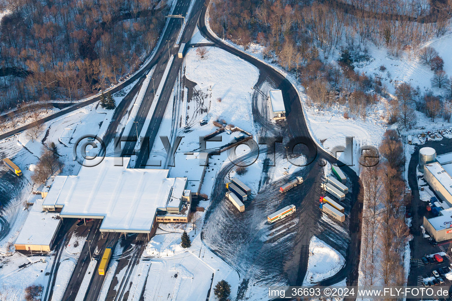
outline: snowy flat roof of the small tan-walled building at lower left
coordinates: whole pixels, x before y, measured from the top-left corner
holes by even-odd
[[[36,201],[34,206],[41,206],[42,202]],[[57,213],[45,213],[31,210],[25,220],[24,227],[20,231],[15,244],[18,245],[50,245],[61,219]]]

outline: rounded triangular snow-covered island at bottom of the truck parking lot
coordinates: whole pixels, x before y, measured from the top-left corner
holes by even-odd
[[[344,256],[324,241],[312,236],[309,242],[308,269],[303,285],[313,285],[333,276],[344,264]]]

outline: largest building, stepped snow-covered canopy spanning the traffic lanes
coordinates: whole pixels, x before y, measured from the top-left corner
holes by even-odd
[[[56,176],[42,208],[61,218],[100,218],[101,232],[152,233],[157,221],[188,222],[187,178],[170,178],[168,169],[127,168],[129,160],[115,166],[115,158],[105,157],[77,176]]]

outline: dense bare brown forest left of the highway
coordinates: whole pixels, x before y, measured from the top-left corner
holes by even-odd
[[[74,101],[135,71],[158,40],[165,0],[2,0],[0,111]]]

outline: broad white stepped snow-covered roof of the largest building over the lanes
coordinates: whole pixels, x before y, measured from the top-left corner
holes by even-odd
[[[167,178],[167,169],[127,168],[130,158],[115,166],[115,160],[105,157],[99,165],[67,176],[55,203],[63,206],[60,216],[103,218],[100,229],[106,231],[150,231],[157,208],[168,203],[175,179]],[[180,186],[182,195],[185,187]]]

